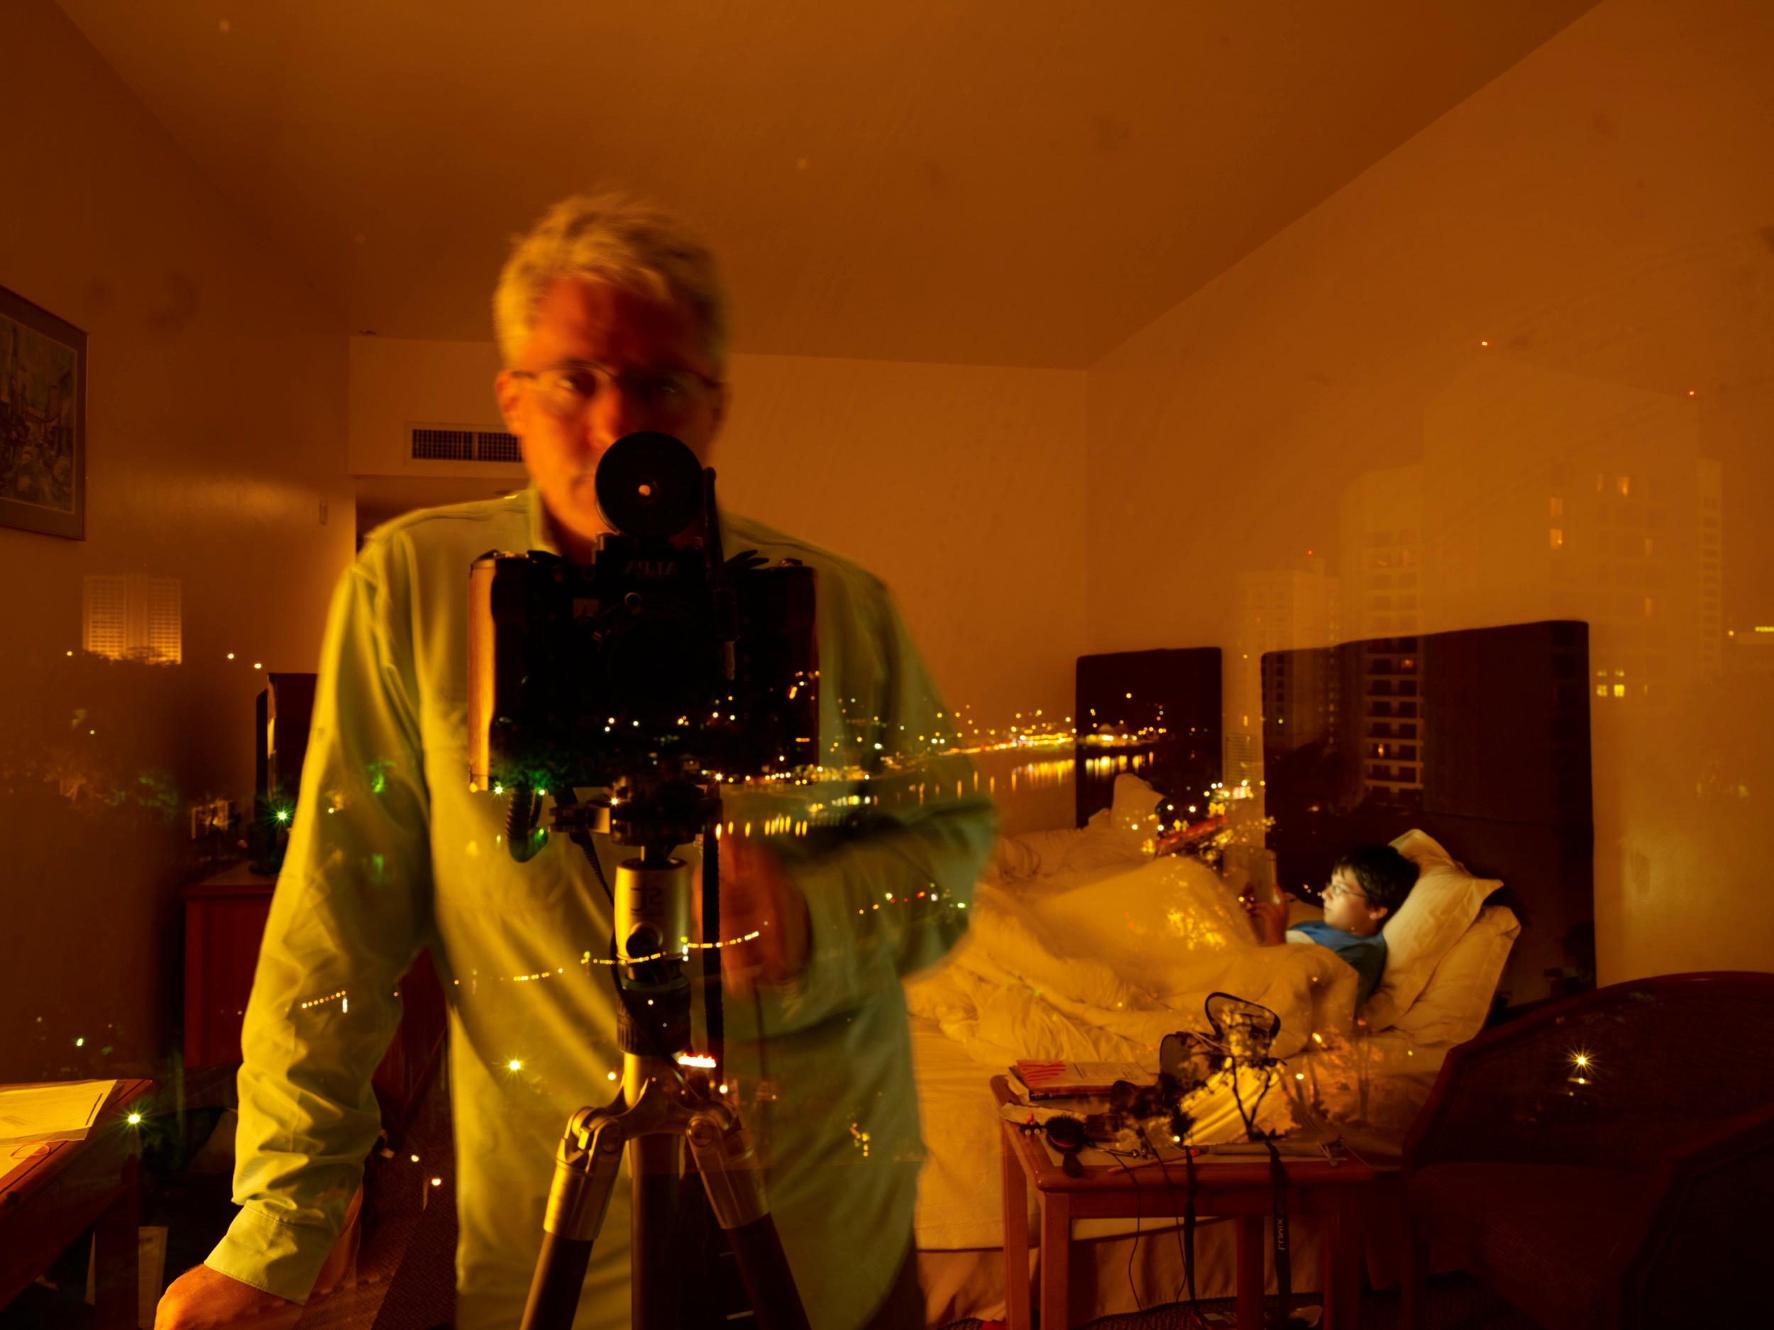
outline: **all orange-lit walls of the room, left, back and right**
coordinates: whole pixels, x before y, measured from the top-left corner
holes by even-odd
[[[1070,713],[1082,649],[1233,645],[1240,575],[1311,548],[1336,578],[1405,495],[1421,630],[1575,614],[1627,670],[1593,711],[1602,977],[1765,968],[1769,23],[1609,0],[1087,374],[736,356],[726,502],[883,576],[949,700],[1002,725]],[[9,133],[0,284],[90,333],[89,539],[0,528],[0,903],[30,938],[0,1078],[110,1075],[174,1043],[188,812],[250,789],[252,663],[312,667],[353,477],[413,475],[406,420],[493,424],[495,360],[348,339],[50,0],[0,11],[0,83],[57,108]],[[1659,489],[1655,557],[1570,523],[1554,585],[1554,465]],[[183,663],[82,656],[90,575],[176,578]]]

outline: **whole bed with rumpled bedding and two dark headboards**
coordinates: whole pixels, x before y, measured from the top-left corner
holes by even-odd
[[[1575,642],[1572,628],[1579,630]],[[1558,670],[1559,677],[1574,672],[1579,683],[1586,677],[1581,628],[1527,624],[1440,635],[1462,638],[1449,644],[1385,644],[1391,660],[1428,658],[1439,665],[1433,674],[1419,669],[1417,709],[1444,716],[1435,738],[1444,768],[1460,771],[1456,784],[1471,787],[1471,771],[1448,759],[1471,763],[1474,754],[1497,750],[1462,732],[1483,725],[1488,708],[1481,700],[1499,688],[1503,695],[1520,690],[1543,697],[1542,670]],[[1579,660],[1572,660],[1574,653]],[[1166,810],[1176,814],[1187,810],[1185,800],[1194,800],[1197,787],[1203,802],[1210,791],[1226,798],[1215,789],[1219,653],[1080,660],[1077,715],[1086,727],[1077,759],[1079,825],[1001,841],[976,892],[969,940],[944,966],[907,982],[926,1137],[915,1232],[930,1325],[1004,1314],[999,1123],[988,1080],[1009,1060],[1141,1060],[1155,1069],[1164,1032],[1201,1027],[1203,986],[1212,982],[1283,1013],[1276,1048],[1286,1057],[1283,1084],[1299,1076],[1299,1094],[1384,1169],[1396,1162],[1446,1052],[1478,1034],[1492,1013],[1522,933],[1515,904],[1531,897],[1538,906],[1550,894],[1568,904],[1558,915],[1559,927],[1581,906],[1568,880],[1586,885],[1588,872],[1586,697],[1574,702],[1584,713],[1581,763],[1572,755],[1568,716],[1547,716],[1547,708],[1535,713],[1538,729],[1526,739],[1515,734],[1513,747],[1503,745],[1519,766],[1524,741],[1556,732],[1565,745],[1552,764],[1563,784],[1558,798],[1538,800],[1526,816],[1497,818],[1495,800],[1449,807],[1446,780],[1416,782],[1405,798],[1396,798],[1393,786],[1361,780],[1368,770],[1361,763],[1366,736],[1359,720],[1352,727],[1339,716],[1362,711],[1364,669],[1378,654],[1370,644],[1345,644],[1311,661],[1311,653],[1272,654],[1284,660],[1265,658],[1265,676],[1300,677],[1316,669],[1354,683],[1304,743],[1293,734],[1283,738],[1279,724],[1276,741],[1265,741],[1274,826],[1265,826],[1258,800],[1229,800],[1231,823],[1242,826],[1231,849],[1251,853],[1228,855],[1219,871],[1192,858],[1151,858],[1151,818],[1166,794],[1174,796]],[[1456,658],[1478,665],[1462,667]],[[1508,663],[1501,685],[1499,661]],[[1313,695],[1336,692],[1320,686]],[[1095,729],[1087,729],[1093,713]],[[1297,732],[1306,729],[1299,709],[1288,715]],[[1290,761],[1306,748],[1306,757]],[[1361,787],[1355,796],[1350,773]],[[1572,793],[1570,786],[1581,789]],[[1412,903],[1387,924],[1387,974],[1361,1013],[1354,1009],[1352,972],[1329,952],[1254,947],[1235,899],[1236,883],[1221,876],[1242,878],[1272,855],[1281,881],[1299,885],[1304,872],[1318,869],[1315,857],[1341,835],[1354,837],[1343,844],[1393,841],[1421,874]],[[1536,858],[1549,846],[1558,853]],[[1456,853],[1471,857],[1474,871]],[[1290,904],[1291,920],[1313,913],[1316,906],[1306,894]],[[1270,1112],[1277,1110],[1288,1110],[1284,1096],[1272,1099]],[[1268,1121],[1284,1124],[1279,1115]],[[1032,1213],[1029,1220],[1034,1241]],[[1368,1243],[1370,1275],[1378,1284],[1389,1282],[1385,1238],[1371,1234]],[[1297,1293],[1315,1286],[1316,1241],[1311,1227],[1297,1229]],[[1073,1323],[1180,1296],[1181,1247],[1169,1222],[1082,1222],[1073,1250]],[[1229,1296],[1231,1224],[1203,1222],[1196,1250],[1199,1296]],[[1031,1247],[1031,1264],[1038,1261]]]

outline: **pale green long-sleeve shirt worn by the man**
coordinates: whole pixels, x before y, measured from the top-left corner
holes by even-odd
[[[807,899],[807,968],[726,1004],[727,1073],[768,1151],[802,1298],[814,1326],[852,1326],[905,1256],[922,1156],[898,981],[965,929],[995,816],[972,764],[944,752],[958,724],[885,587],[745,518],[724,518],[722,537],[729,555],[814,569],[821,752],[867,773],[800,791],[827,810],[860,798],[848,835],[772,842]],[[378,1133],[369,1080],[399,1021],[396,982],[431,947],[451,1004],[463,1330],[516,1323],[561,1130],[612,1098],[621,1068],[610,972],[587,959],[610,940],[591,867],[564,837],[514,862],[504,800],[468,791],[468,567],[488,550],[553,550],[534,488],[392,521],[339,583],[241,1036],[241,1211],[208,1257],[307,1296]],[[761,826],[782,798],[733,789],[726,816]],[[619,848],[598,849],[614,881]],[[626,1172],[577,1325],[628,1325]]]

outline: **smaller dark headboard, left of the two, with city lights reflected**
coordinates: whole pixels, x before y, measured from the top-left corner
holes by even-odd
[[[1166,794],[1206,789],[1221,778],[1219,647],[1079,656],[1075,685],[1079,826],[1111,805],[1121,770]],[[1132,745],[1091,743],[1095,734],[1141,732]]]

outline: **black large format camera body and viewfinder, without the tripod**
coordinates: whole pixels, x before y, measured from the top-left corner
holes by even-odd
[[[594,482],[614,532],[593,564],[474,564],[470,786],[601,787],[612,830],[626,803],[688,841],[718,782],[818,763],[814,573],[726,557],[715,473],[669,434],[617,440]]]

